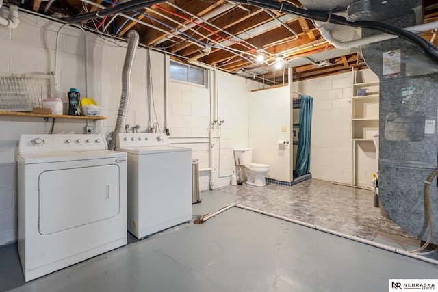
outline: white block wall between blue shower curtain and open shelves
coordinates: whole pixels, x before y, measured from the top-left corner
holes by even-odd
[[[352,183],[352,73],[294,83],[313,97],[311,174],[313,178]]]

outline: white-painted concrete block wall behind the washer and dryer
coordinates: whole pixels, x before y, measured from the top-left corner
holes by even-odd
[[[121,72],[126,54],[126,42],[117,42],[86,33],[88,41],[88,94],[85,78],[85,38],[75,27],[20,12],[21,23],[17,29],[0,28],[0,74],[44,74],[55,71],[58,97],[67,107],[67,92],[77,88],[81,97],[93,98],[98,103],[101,116],[106,120],[96,122],[96,133],[110,137],[114,130],[120,104]],[[60,34],[58,31],[62,27]],[[58,45],[56,39],[58,37]],[[57,48],[57,58],[55,51]],[[168,81],[167,103],[164,103],[164,86],[168,56],[151,51],[151,76],[153,107],[150,109],[146,92],[148,51],[138,49],[133,63],[132,96],[126,123],[138,124],[145,132],[158,122],[164,131],[164,109],[168,114],[171,143],[192,148],[193,157],[200,159],[200,168],[208,165],[208,129],[211,118],[211,84],[207,88]],[[57,69],[55,70],[55,59]],[[215,187],[229,184],[233,170],[231,148],[248,146],[248,94],[259,86],[224,72],[218,73],[218,105],[221,131],[216,129],[214,140]],[[235,89],[234,89],[235,88]],[[149,113],[152,112],[150,117]],[[16,241],[17,189],[16,145],[21,134],[49,133],[51,120],[17,116],[0,116],[0,245]],[[57,118],[53,133],[83,133],[86,121]],[[132,131],[130,129],[130,131]],[[219,138],[220,165],[219,165]],[[181,140],[178,138],[184,138]],[[201,139],[199,139],[201,137]],[[219,173],[220,166],[220,173]],[[209,189],[208,172],[200,174],[200,189]],[[171,178],[169,178],[171,179]]]

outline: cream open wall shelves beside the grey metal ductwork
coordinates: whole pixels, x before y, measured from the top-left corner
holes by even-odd
[[[353,140],[372,140],[378,131],[378,86],[378,82],[353,83]]]

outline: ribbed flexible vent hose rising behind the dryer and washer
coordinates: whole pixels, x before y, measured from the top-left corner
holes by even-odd
[[[129,107],[129,99],[131,98],[131,72],[138,46],[138,32],[135,30],[130,30],[128,32],[128,38],[129,42],[125,55],[125,63],[123,64],[122,70],[122,95],[120,97],[120,107],[118,107],[116,127],[112,132],[110,144],[108,144],[108,150],[114,150],[116,148],[117,134],[120,133],[122,125],[125,124],[126,113]]]

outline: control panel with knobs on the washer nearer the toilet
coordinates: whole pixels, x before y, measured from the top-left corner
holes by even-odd
[[[119,133],[116,148],[169,146],[164,133]]]

